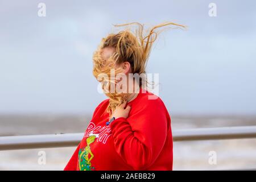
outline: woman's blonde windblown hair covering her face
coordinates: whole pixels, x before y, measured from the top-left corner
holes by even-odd
[[[134,32],[128,27],[133,25],[137,26]],[[181,24],[172,22],[158,24],[146,31],[144,31],[143,24],[136,22],[115,25],[115,27],[121,26],[125,26],[125,30],[120,31],[117,34],[109,34],[106,38],[102,38],[100,46],[93,54],[93,75],[97,79],[102,73],[108,75],[106,80],[109,80],[109,84],[116,84],[115,80],[111,80],[110,78],[110,70],[114,69],[114,65],[121,64],[125,61],[130,63],[132,73],[138,73],[139,75],[141,73],[146,73],[145,69],[148,57],[150,56],[152,44],[155,42],[159,33],[164,30],[156,31],[157,28],[166,26],[171,26],[169,28],[185,28],[185,26]],[[108,60],[104,60],[101,56],[102,49],[107,47],[114,48],[114,53]],[[115,69],[115,74],[120,72],[120,69]],[[105,88],[109,88],[109,86],[110,85]],[[139,86],[142,86],[141,81],[139,81]],[[102,89],[104,89],[104,86],[102,86]],[[109,106],[106,111],[110,114],[112,114],[112,111],[114,111],[119,104],[122,104],[128,96],[128,94],[125,93],[105,92],[105,94],[109,97]]]

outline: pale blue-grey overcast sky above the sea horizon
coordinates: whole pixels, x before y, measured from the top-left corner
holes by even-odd
[[[38,16],[38,3],[46,17]],[[127,3],[129,2],[129,3]],[[217,16],[208,15],[216,3]],[[256,1],[0,1],[0,113],[92,113],[92,53],[112,24],[172,21],[147,72],[170,114],[256,114]]]

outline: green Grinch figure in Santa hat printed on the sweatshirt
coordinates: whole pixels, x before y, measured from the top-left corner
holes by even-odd
[[[90,150],[90,144],[92,144],[99,134],[91,132],[89,137],[86,138],[87,146],[79,150],[79,169],[80,171],[92,171],[95,168],[92,167],[91,160],[94,158],[93,152]]]

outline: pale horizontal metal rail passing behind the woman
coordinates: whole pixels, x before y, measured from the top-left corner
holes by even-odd
[[[0,151],[28,148],[72,147],[77,146],[83,136],[84,133],[0,137]],[[172,131],[172,136],[175,142],[256,138],[256,126],[174,130]]]

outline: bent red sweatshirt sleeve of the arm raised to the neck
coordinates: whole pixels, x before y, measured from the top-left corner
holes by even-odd
[[[133,106],[131,106],[131,111]],[[117,118],[111,124],[114,147],[135,170],[144,170],[158,158],[167,138],[167,113],[162,100],[141,102],[129,118]]]

